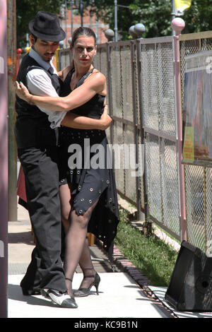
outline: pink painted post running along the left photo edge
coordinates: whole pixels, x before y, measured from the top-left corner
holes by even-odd
[[[6,0],[0,0],[0,318],[7,317],[8,90]]]

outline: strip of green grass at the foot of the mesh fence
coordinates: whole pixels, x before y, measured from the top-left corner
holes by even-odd
[[[167,286],[177,252],[155,236],[145,237],[129,223],[119,223],[115,244],[155,286]]]

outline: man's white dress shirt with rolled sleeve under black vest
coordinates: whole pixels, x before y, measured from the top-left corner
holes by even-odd
[[[29,56],[32,57],[37,64],[40,64],[43,69],[46,71],[49,70],[50,67],[54,70],[53,73],[57,74],[56,69],[52,65],[52,60],[50,62],[44,61],[40,55],[35,52],[35,50],[31,47]],[[58,97],[57,91],[54,89],[52,85],[52,81],[43,71],[42,69],[32,69],[27,73],[27,83],[28,83],[28,90],[33,95],[40,95],[40,96],[52,96]],[[48,115],[48,120],[51,123],[50,126],[52,129],[57,128],[60,126],[61,121],[64,119],[66,112],[59,112],[59,111],[50,111],[49,109],[44,109],[39,107],[42,112],[45,112]]]

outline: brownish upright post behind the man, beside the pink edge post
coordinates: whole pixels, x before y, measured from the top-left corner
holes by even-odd
[[[8,40],[8,220],[17,220],[17,148],[14,136],[16,122],[16,0],[7,1]]]

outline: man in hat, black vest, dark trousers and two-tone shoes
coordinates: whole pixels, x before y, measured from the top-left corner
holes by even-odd
[[[52,57],[65,32],[58,16],[40,11],[30,21],[29,54],[23,57],[18,71],[22,81],[36,95],[57,96],[60,85]],[[61,307],[76,308],[66,292],[61,254],[61,214],[59,202],[58,127],[60,124],[82,129],[105,129],[110,120],[85,119],[66,112],[52,112],[30,105],[16,97],[15,126],[18,158],[25,174],[28,211],[36,238],[32,260],[20,283],[23,295],[40,292]],[[99,122],[98,122],[99,121]],[[96,124],[98,122],[98,124]],[[107,123],[107,125],[105,124]],[[96,125],[95,125],[96,124]]]

